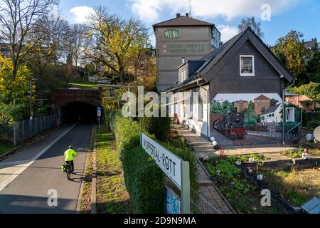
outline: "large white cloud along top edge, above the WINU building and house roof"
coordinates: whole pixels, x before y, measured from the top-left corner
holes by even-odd
[[[140,19],[157,21],[163,11],[188,12],[188,1],[174,0],[128,0],[132,11]],[[237,16],[260,16],[262,4],[270,4],[271,13],[280,14],[302,0],[196,0],[191,2],[193,16],[215,18],[223,16],[231,20]]]

